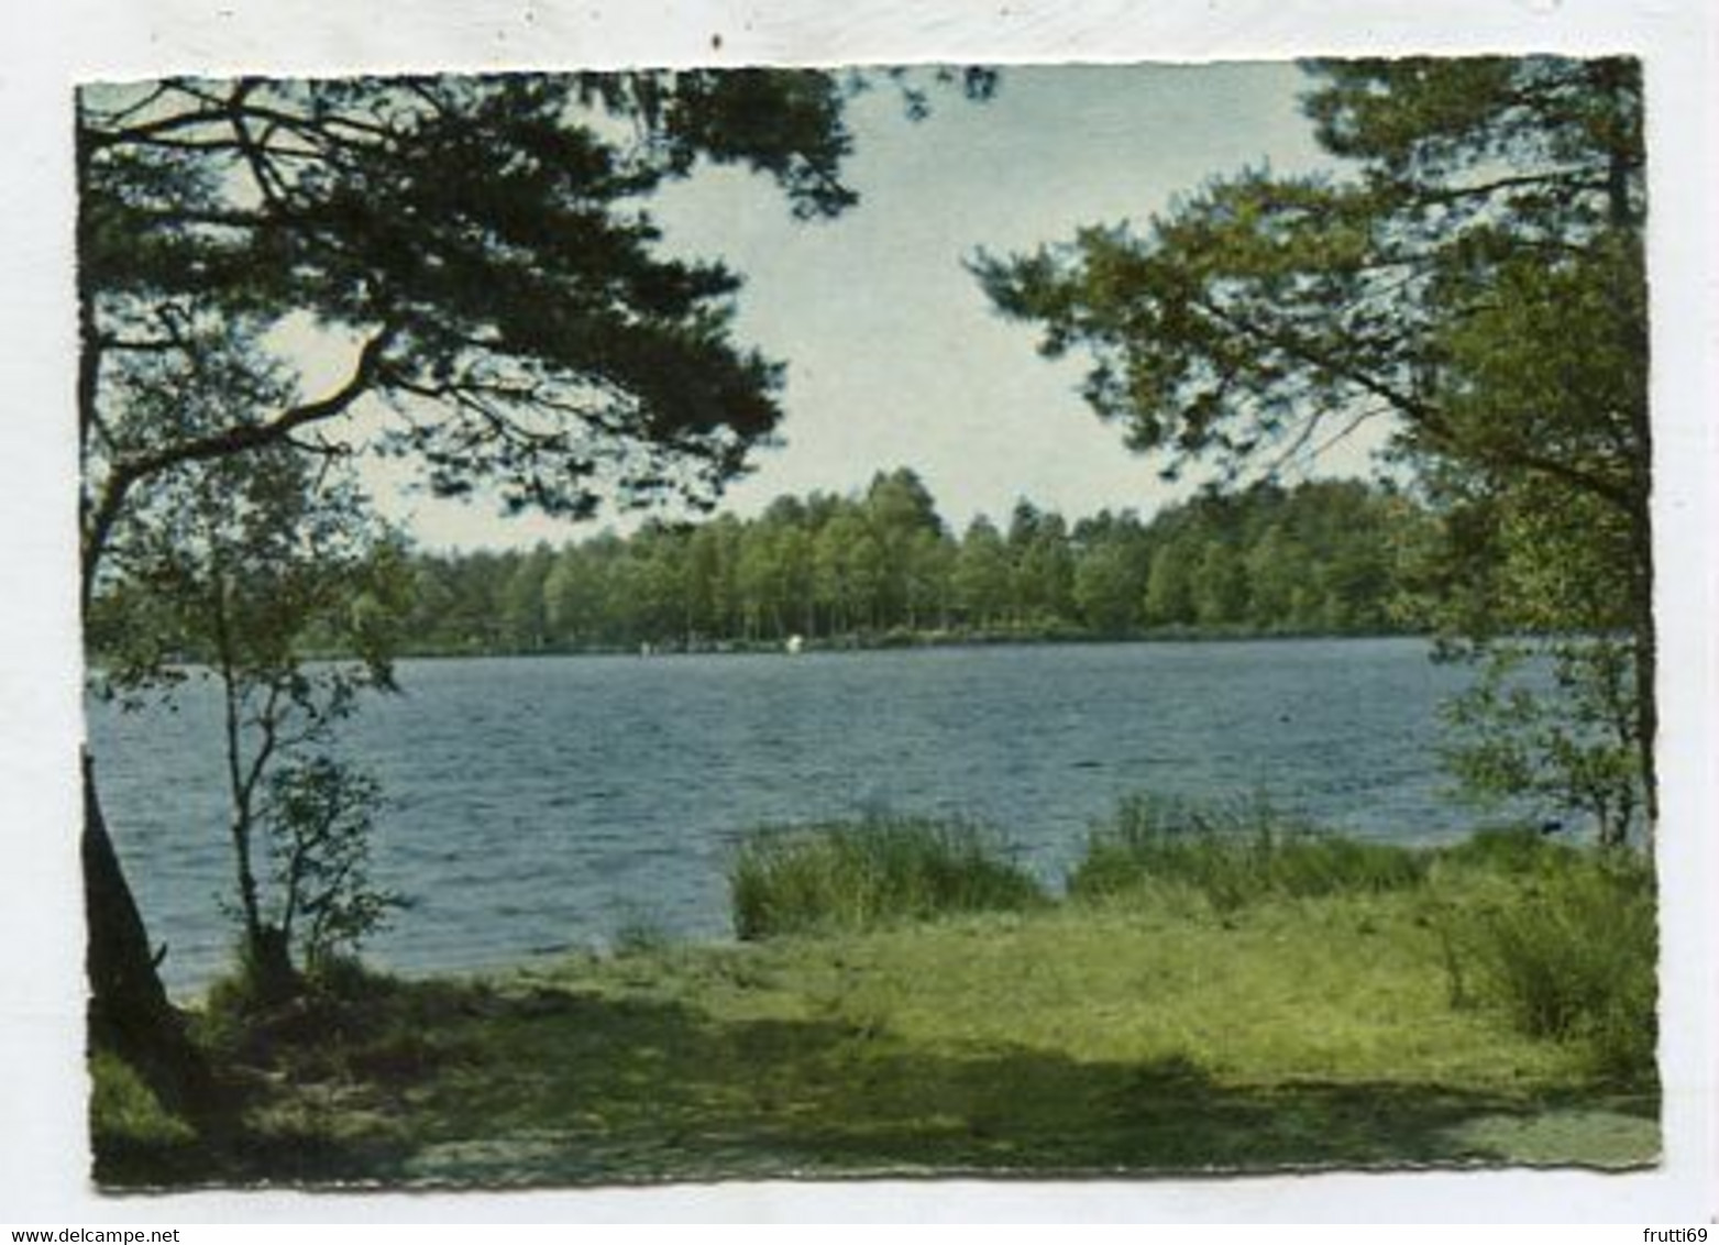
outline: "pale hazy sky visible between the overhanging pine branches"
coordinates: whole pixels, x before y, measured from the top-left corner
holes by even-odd
[[[849,110],[860,205],[842,217],[796,222],[772,182],[741,170],[662,193],[650,210],[665,248],[743,273],[736,337],[787,365],[782,444],[755,454],[724,506],[847,494],[897,466],[920,473],[956,530],[1006,518],[1019,497],[1073,519],[1186,495],[1198,476],[1162,483],[1080,399],[1081,359],[1043,359],[1035,327],[995,315],[963,261],[1090,224],[1143,225],[1248,165],[1331,167],[1298,112],[1305,84],[1284,60],[1011,67],[988,103],[933,91],[932,117],[913,124],[880,83]],[[1365,445],[1320,469],[1365,471]],[[401,497],[395,476],[373,480],[428,549],[560,543],[617,523],[612,511],[578,526],[502,518],[493,500]]]

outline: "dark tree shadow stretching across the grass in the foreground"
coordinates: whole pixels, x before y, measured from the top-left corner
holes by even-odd
[[[535,987],[394,985],[337,1042],[251,1049],[222,1137],[108,1147],[112,1185],[590,1185],[884,1174],[1638,1166],[1652,1094],[1227,1085],[1191,1061],[927,1047],[887,1020],[717,1020]]]

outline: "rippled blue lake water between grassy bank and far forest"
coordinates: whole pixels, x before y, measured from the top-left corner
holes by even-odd
[[[517,963],[646,923],[729,935],[724,867],[762,824],[872,810],[999,827],[1047,880],[1119,796],[1263,794],[1360,836],[1468,825],[1437,769],[1461,671],[1418,640],[402,662],[349,724],[388,806],[375,880],[414,899],[399,970]],[[103,801],[163,973],[225,966],[210,688],[91,707]]]

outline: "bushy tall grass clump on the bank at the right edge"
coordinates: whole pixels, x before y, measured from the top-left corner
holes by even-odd
[[[1650,1080],[1659,1039],[1659,929],[1650,865],[1628,851],[1549,855],[1511,901],[1470,918],[1458,946],[1518,1032],[1583,1042],[1595,1071]]]

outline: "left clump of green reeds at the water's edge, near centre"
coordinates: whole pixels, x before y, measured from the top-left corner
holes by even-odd
[[[966,822],[868,817],[748,836],[729,867],[741,939],[875,929],[1047,903],[1007,849]]]

